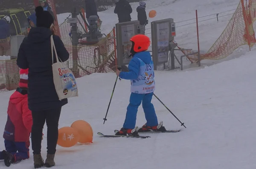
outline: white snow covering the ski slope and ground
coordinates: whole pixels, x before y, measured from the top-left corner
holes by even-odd
[[[179,20],[193,18],[195,8],[200,15],[236,8],[237,0],[148,0],[149,8],[157,9],[156,20],[167,14]],[[169,3],[168,3],[169,2]],[[133,9],[136,3],[131,3]],[[151,5],[149,5],[151,4]],[[175,5],[177,4],[177,5]],[[186,4],[186,5],[184,5]],[[111,11],[112,10],[112,11]],[[102,27],[110,31],[117,20],[113,8],[100,12],[102,18],[109,18],[113,24],[104,21]],[[166,13],[165,13],[166,12]],[[179,13],[178,13],[179,12]],[[133,13],[133,19],[136,14]],[[209,20],[202,22],[201,48],[207,51],[224,30],[228,18],[219,23]],[[104,20],[104,19],[103,19]],[[176,20],[176,19],[175,19]],[[212,23],[207,23],[212,22]],[[218,28],[222,26],[222,28]],[[182,28],[182,27],[180,27]],[[191,29],[190,29],[191,28]],[[184,26],[176,41],[196,48],[193,36],[195,26]],[[210,29],[212,28],[212,29]],[[216,35],[207,33],[216,31]],[[203,31],[202,31],[203,32]],[[185,36],[187,34],[187,37]],[[187,41],[186,41],[187,39]],[[193,40],[192,40],[193,39]],[[190,42],[190,43],[188,43]],[[196,39],[195,39],[196,42]],[[183,47],[183,46],[182,46]],[[114,134],[122,127],[130,96],[130,83],[118,81],[108,113],[108,107],[116,76],[114,73],[94,73],[77,79],[79,97],[69,99],[63,107],[59,128],[70,126],[82,119],[91,124],[94,132],[93,144],[76,145],[70,148],[57,146],[56,169],[255,169],[256,135],[256,80],[254,78],[256,49],[246,53],[241,48],[236,59],[205,66],[191,71],[156,71],[155,94],[184,122],[187,129],[178,133],[151,134],[151,138],[100,138],[97,132]],[[241,54],[245,54],[242,55]],[[221,60],[223,61],[223,60]],[[207,64],[206,64],[207,65]],[[0,129],[6,123],[9,96],[13,91],[0,94]],[[180,129],[180,123],[155,98],[158,120],[164,121],[166,129]],[[137,126],[145,124],[142,107],[137,115]],[[141,134],[147,135],[147,134]],[[47,127],[44,128],[47,136]],[[42,155],[46,158],[47,138],[42,141]],[[31,148],[31,147],[30,147]],[[4,149],[3,138],[0,149]],[[32,150],[30,150],[32,155]],[[0,161],[0,169],[5,168]],[[10,169],[32,169],[33,158],[11,165]]]

